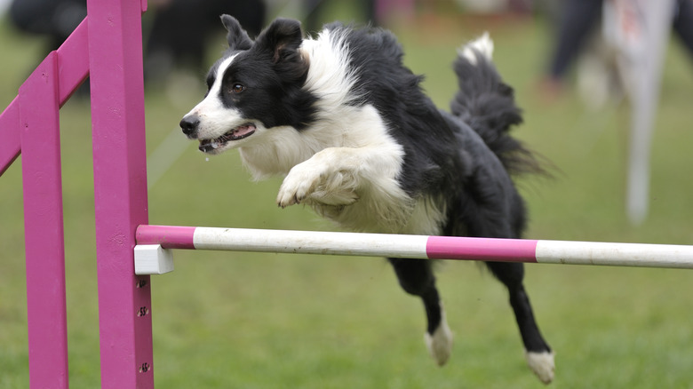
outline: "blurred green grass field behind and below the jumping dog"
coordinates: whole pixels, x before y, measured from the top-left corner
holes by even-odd
[[[339,12],[335,18],[349,17]],[[525,112],[526,123],[515,135],[555,165],[555,179],[519,183],[530,206],[528,238],[693,243],[693,67],[677,44],[665,63],[649,218],[631,226],[623,201],[627,107],[590,111],[572,91],[552,100],[538,91],[552,39],[544,20],[436,15],[394,30],[405,62],[426,74],[424,86],[441,107],[455,90],[454,49],[490,30],[498,68]],[[212,54],[221,52],[221,42]],[[36,66],[42,46],[3,21],[0,47],[5,107]],[[208,159],[182,135],[171,136],[203,89],[188,87],[182,78],[181,85],[176,78],[169,83],[146,94],[147,149],[155,153],[165,141],[156,153],[174,160],[169,169],[150,166],[162,171],[150,182],[152,224],[333,229],[300,206],[278,209],[281,181],[251,182],[236,153]],[[100,385],[90,131],[88,102],[68,102],[61,110],[61,147],[74,388]],[[0,198],[0,388],[24,388],[20,160],[0,178]],[[439,369],[423,343],[422,306],[400,290],[384,260],[202,251],[175,256],[175,272],[153,277],[157,387],[542,386],[523,361],[505,290],[473,264],[446,263],[439,273],[456,333],[452,358]],[[527,266],[526,285],[556,352],[554,387],[693,387],[689,271],[534,265]]]

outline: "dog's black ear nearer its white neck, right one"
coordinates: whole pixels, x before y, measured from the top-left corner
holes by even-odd
[[[260,33],[256,44],[272,52],[272,60],[277,63],[282,60],[294,60],[298,56],[297,51],[302,42],[300,21],[279,18]]]

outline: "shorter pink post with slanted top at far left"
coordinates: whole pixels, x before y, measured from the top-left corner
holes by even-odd
[[[57,58],[52,52],[36,67],[18,98],[32,388],[68,387]]]

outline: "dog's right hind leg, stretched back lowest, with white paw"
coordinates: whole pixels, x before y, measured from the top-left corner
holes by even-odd
[[[548,384],[554,379],[554,353],[541,336],[530,306],[530,298],[522,285],[524,266],[520,263],[487,262],[491,273],[503,282],[510,295],[517,326],[520,328],[525,358],[530,369]]]

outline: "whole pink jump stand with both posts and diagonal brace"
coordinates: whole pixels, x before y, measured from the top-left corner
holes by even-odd
[[[31,388],[68,388],[60,107],[91,75],[101,385],[154,387],[150,286],[133,265],[147,223],[141,13],[89,0],[88,16],[0,115],[0,174],[22,155]]]

